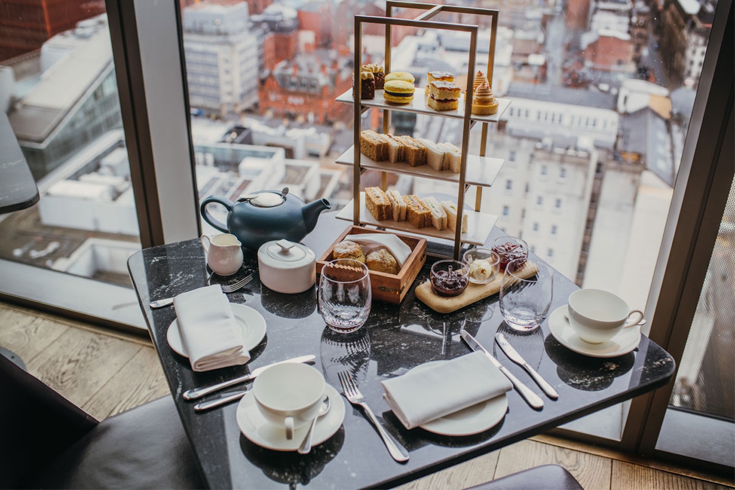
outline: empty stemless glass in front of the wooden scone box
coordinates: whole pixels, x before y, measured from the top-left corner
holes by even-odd
[[[356,331],[368,320],[373,302],[368,267],[352,259],[329,262],[321,270],[318,298],[329,328],[343,334]]]

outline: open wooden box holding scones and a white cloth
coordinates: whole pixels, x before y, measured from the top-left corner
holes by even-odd
[[[366,233],[385,233],[392,234],[400,238],[402,242],[408,245],[412,252],[406,263],[398,271],[398,274],[380,273],[375,270],[370,271],[370,287],[373,291],[373,299],[387,301],[388,303],[401,303],[406,293],[411,288],[413,281],[418,275],[424,262],[426,262],[426,239],[421,237],[411,237],[409,235],[390,233],[388,231],[374,230],[364,228],[362,226],[348,226],[339,238],[334,240],[326,252],[317,260],[317,273],[320,274],[322,267],[327,262],[334,260],[332,250],[334,245],[342,242],[347,235],[366,234]]]

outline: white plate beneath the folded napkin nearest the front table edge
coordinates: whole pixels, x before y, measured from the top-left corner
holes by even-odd
[[[411,371],[420,372],[431,364],[446,361],[431,361],[413,368]],[[419,427],[442,436],[470,436],[495,427],[508,411],[508,397],[503,393],[476,405],[463,408],[453,414],[445,415]]]

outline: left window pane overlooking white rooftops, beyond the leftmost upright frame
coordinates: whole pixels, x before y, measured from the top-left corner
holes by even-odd
[[[127,285],[140,242],[104,3],[44,5],[0,8],[0,104],[40,191],[0,216],[0,258]]]

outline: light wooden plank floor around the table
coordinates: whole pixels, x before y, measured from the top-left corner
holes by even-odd
[[[97,419],[168,394],[150,342],[0,302],[0,346]],[[584,489],[727,489],[705,475],[587,444],[537,436],[399,487],[464,489],[539,464],[560,464]],[[539,489],[544,488],[539,486]]]

